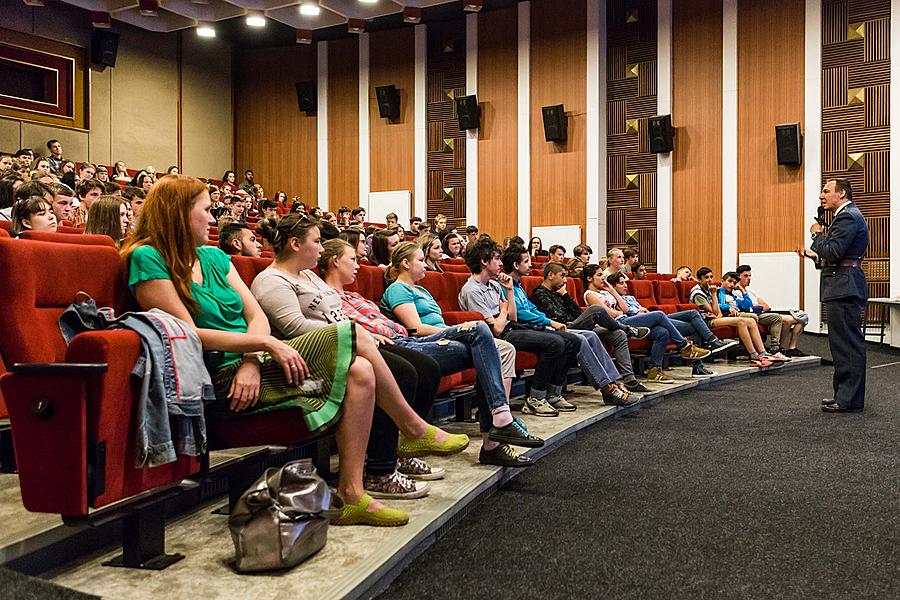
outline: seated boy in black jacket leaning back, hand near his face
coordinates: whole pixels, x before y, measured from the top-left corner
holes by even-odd
[[[590,330],[613,349],[613,359],[622,381],[630,392],[649,392],[650,389],[634,377],[628,338],[643,339],[650,335],[647,327],[632,327],[616,321],[599,304],[582,311],[566,290],[566,268],[558,263],[544,265],[544,282],[531,292],[531,301],[542,313],[572,329]]]

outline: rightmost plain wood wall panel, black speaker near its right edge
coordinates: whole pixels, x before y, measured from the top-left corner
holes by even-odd
[[[775,125],[802,128],[803,40],[803,0],[738,3],[738,252],[804,240],[803,167],[779,166],[775,149]]]

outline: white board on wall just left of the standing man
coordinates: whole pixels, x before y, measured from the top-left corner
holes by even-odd
[[[800,308],[800,265],[796,252],[748,252],[739,256],[739,264],[750,265],[750,287],[772,307],[787,311]]]

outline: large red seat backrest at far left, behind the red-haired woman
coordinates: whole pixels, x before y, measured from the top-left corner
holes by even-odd
[[[122,260],[109,246],[0,239],[0,274],[0,355],[7,365],[65,361],[58,320],[79,291],[117,313],[126,305]]]

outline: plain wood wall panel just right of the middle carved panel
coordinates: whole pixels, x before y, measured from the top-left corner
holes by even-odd
[[[722,2],[672,3],[672,266],[722,272]]]

